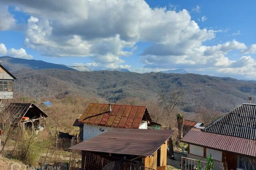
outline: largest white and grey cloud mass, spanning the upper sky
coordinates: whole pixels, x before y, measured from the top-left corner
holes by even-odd
[[[200,29],[187,10],[152,9],[144,0],[64,0],[61,6],[52,0],[8,3],[31,15],[28,47],[50,57],[90,57],[105,67],[125,66],[120,57],[131,55],[140,41],[152,43],[144,55],[164,55],[172,49],[180,55],[215,37],[213,31]],[[158,47],[165,52],[154,52]]]

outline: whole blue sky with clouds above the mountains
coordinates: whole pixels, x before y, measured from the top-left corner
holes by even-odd
[[[256,80],[255,0],[0,0],[0,56]]]

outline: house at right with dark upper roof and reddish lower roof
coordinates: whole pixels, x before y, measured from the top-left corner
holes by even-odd
[[[188,158],[206,160],[210,153],[214,169],[256,169],[256,104],[242,104],[204,129],[192,128],[182,142]]]

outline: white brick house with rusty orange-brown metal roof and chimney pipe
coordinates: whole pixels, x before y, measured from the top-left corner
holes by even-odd
[[[84,141],[114,128],[148,129],[151,121],[145,106],[95,103],[90,103],[78,120],[83,123]]]

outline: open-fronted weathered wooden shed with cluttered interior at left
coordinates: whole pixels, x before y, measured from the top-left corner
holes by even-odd
[[[48,115],[33,103],[11,103],[6,107],[6,113],[23,130],[29,127],[38,133],[46,129],[45,118]]]

